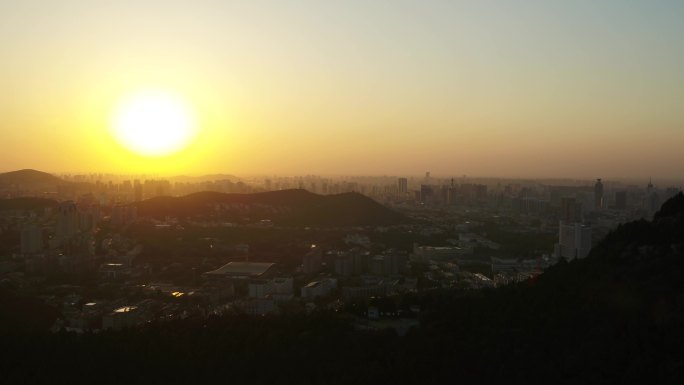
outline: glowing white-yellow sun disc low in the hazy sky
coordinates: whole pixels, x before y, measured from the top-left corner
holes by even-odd
[[[166,90],[145,90],[124,97],[114,109],[110,129],[126,149],[161,157],[189,146],[197,135],[190,104]]]

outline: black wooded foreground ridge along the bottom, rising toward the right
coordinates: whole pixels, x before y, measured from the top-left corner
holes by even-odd
[[[620,226],[589,257],[535,281],[396,299],[423,309],[420,327],[403,337],[360,331],[325,311],[190,317],[118,333],[5,333],[0,381],[679,384],[683,274],[680,193],[653,221]]]

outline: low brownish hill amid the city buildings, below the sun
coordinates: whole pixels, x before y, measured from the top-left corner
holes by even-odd
[[[306,190],[255,194],[201,192],[183,197],[157,197],[135,205],[139,215],[154,218],[270,219],[287,226],[387,225],[405,220],[401,214],[358,193],[318,195]]]

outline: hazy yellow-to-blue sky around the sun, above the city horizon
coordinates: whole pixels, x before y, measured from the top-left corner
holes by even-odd
[[[674,176],[684,1],[0,0],[0,171]],[[117,101],[183,95],[147,159]]]

